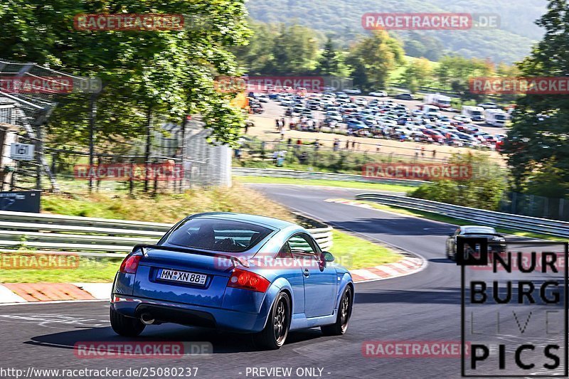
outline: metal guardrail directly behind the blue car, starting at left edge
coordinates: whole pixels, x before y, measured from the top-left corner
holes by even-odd
[[[0,248],[84,252],[82,255],[120,256],[137,244],[153,244],[172,225],[142,221],[0,211]],[[332,245],[332,228],[308,229],[323,250]],[[89,253],[92,252],[92,253]]]

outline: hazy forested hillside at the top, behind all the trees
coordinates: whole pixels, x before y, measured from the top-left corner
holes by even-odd
[[[403,31],[390,33],[405,42],[409,55],[437,60],[456,53],[513,63],[528,55],[542,31],[534,21],[546,11],[545,0],[250,0],[250,16],[266,23],[299,23],[333,36],[347,46],[365,33],[361,16],[366,12],[484,13],[499,14],[495,30]],[[418,43],[419,42],[419,43]]]

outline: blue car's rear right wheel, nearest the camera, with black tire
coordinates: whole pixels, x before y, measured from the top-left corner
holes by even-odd
[[[269,350],[281,348],[287,340],[291,314],[290,297],[286,292],[281,292],[272,304],[265,329],[254,336],[255,345]]]

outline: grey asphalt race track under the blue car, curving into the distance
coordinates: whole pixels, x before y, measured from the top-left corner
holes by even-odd
[[[214,353],[209,358],[78,358],[73,353],[77,342],[127,341],[110,329],[106,302],[1,306],[1,366],[23,370],[198,367],[197,378],[259,378],[250,369],[261,367],[292,368],[292,378],[297,377],[297,368],[321,368],[324,378],[459,378],[459,358],[366,358],[362,353],[364,341],[460,341],[460,271],[444,257],[452,225],[324,202],[351,198],[361,190],[251,186],[333,226],[415,252],[425,257],[428,266],[408,277],[357,284],[349,331],[339,338],[323,337],[319,329],[312,329],[291,333],[279,351],[256,351],[247,336],[168,324],[147,326],[137,338],[211,341]]]

